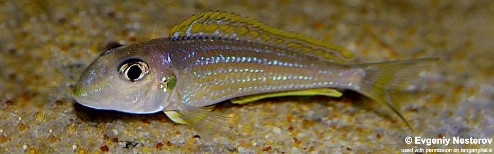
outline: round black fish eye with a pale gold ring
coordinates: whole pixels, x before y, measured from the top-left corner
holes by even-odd
[[[124,61],[118,70],[128,81],[135,82],[143,79],[149,72],[148,64],[140,59],[129,59]]]

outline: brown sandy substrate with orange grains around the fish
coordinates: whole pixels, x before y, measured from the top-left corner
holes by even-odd
[[[354,52],[358,62],[439,57],[410,81],[401,112],[346,92],[221,103],[238,121],[216,138],[195,136],[164,113],[94,110],[71,92],[112,43],[167,36],[203,10],[250,16]],[[454,137],[494,138],[494,3],[482,1],[0,2],[0,153],[367,153],[404,148],[487,148]],[[407,137],[451,139],[407,144]]]

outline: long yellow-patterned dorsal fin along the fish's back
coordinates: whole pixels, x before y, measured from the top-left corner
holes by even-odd
[[[343,47],[264,25],[249,17],[219,11],[204,11],[199,15],[192,15],[188,20],[173,26],[169,38],[245,40],[269,44],[283,49],[281,52],[303,54],[334,63],[343,63],[354,57],[354,54]]]

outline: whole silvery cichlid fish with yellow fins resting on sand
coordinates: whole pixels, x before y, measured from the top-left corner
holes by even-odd
[[[350,64],[339,46],[276,29],[249,17],[205,11],[175,25],[169,37],[104,50],[74,87],[80,104],[129,113],[164,111],[196,130],[219,129],[231,117],[210,112],[239,97],[322,94],[349,89],[391,107],[403,82],[435,58]],[[246,100],[246,101],[245,101]]]

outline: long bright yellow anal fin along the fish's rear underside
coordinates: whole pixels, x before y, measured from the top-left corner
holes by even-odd
[[[256,95],[250,95],[246,97],[239,97],[230,100],[233,104],[246,104],[266,98],[286,97],[286,96],[313,96],[313,95],[325,95],[327,97],[339,98],[343,93],[332,88],[319,88],[319,89],[306,89],[306,90],[294,90],[294,91],[282,91],[262,93]]]

